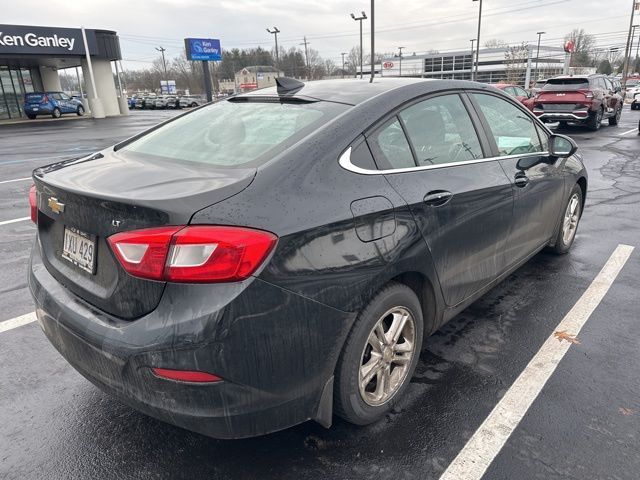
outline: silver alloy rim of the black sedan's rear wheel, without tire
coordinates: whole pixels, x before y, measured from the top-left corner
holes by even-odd
[[[405,307],[388,310],[376,322],[363,349],[358,386],[371,406],[388,402],[400,390],[415,354],[416,328]]]

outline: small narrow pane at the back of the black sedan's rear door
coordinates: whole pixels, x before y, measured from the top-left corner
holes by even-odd
[[[413,153],[397,117],[389,120],[369,139],[369,145],[381,170],[415,167]]]

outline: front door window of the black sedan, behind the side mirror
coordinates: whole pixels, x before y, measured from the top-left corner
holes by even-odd
[[[487,119],[501,157],[543,151],[535,123],[526,113],[493,95],[473,96]]]

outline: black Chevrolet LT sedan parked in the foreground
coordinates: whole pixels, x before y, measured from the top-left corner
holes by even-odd
[[[490,86],[280,78],[34,171],[39,323],[99,388],[206,435],[374,422],[423,338],[570,249],[575,152]]]

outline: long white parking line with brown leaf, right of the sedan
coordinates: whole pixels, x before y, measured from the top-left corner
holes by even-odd
[[[633,247],[618,245],[578,302],[556,327],[572,336],[589,319],[629,259]],[[569,350],[570,342],[553,334],[542,345],[493,411],[476,430],[440,480],[479,480],[505,445],[520,420],[533,404],[556,367]]]

